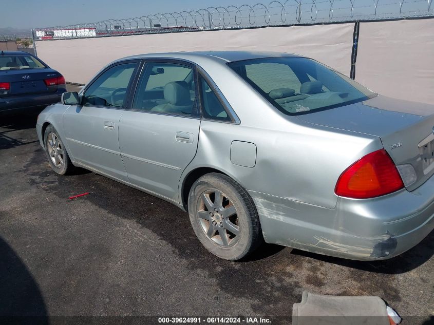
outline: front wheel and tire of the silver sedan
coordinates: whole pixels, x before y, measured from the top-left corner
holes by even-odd
[[[49,125],[44,132],[44,147],[51,168],[59,175],[70,174],[74,166],[60,139],[58,131]]]

